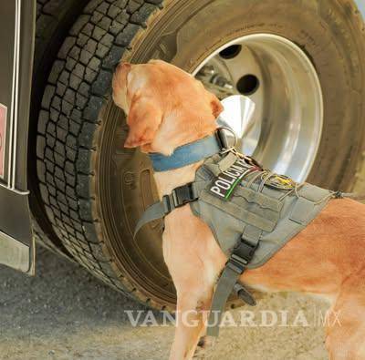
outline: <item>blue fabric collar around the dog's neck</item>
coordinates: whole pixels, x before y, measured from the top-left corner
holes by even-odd
[[[165,156],[156,152],[149,154],[153,170],[175,170],[217,154],[224,148],[217,133],[176,148],[171,156]]]

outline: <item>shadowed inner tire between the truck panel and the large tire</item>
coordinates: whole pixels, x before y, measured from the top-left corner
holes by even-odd
[[[36,242],[61,255],[70,254],[57,238],[47,219],[36,176],[36,132],[41,100],[47,84],[47,77],[59,47],[68,30],[75,23],[83,7],[89,0],[37,0],[36,38],[33,63],[32,101],[30,108],[29,146],[28,146],[28,189],[32,213],[33,233]]]

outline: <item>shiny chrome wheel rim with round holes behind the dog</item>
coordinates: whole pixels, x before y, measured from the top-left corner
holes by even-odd
[[[235,95],[255,102],[251,119],[237,124],[235,114],[227,121],[238,149],[267,169],[307,179],[321,139],[323,97],[316,69],[299,46],[272,34],[242,36],[205,57],[193,75],[224,108],[233,108]]]

